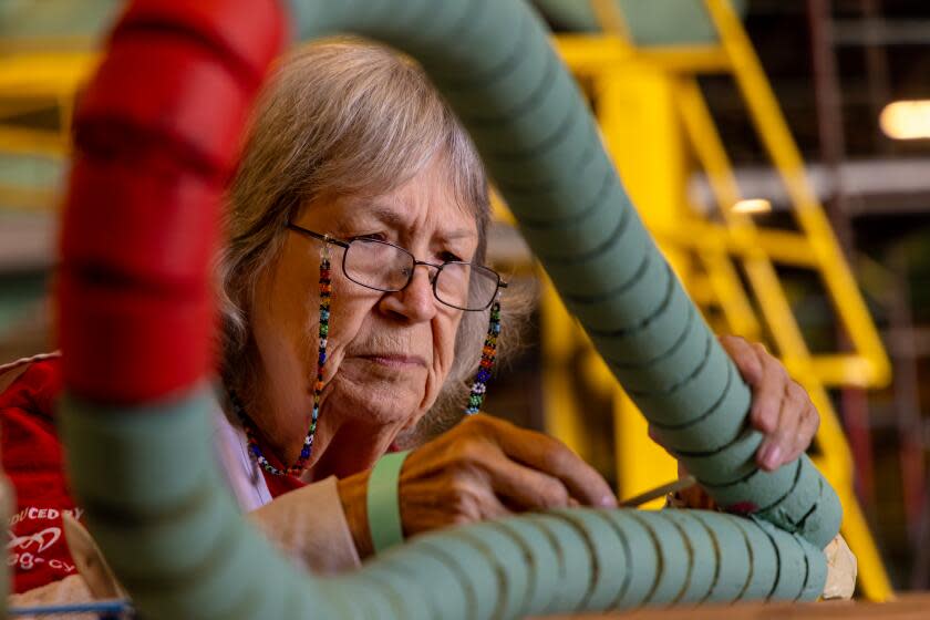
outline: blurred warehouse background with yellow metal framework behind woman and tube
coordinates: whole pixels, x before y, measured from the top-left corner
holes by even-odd
[[[820,409],[860,591],[930,588],[930,3],[536,3],[709,321],[765,342]],[[54,348],[69,121],[121,4],[0,1],[0,363]],[[487,409],[621,496],[674,477],[498,213],[495,261],[544,285]]]

